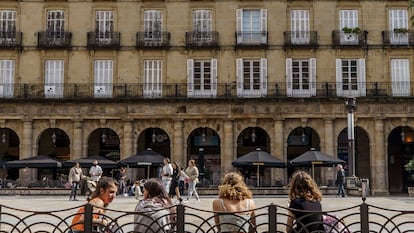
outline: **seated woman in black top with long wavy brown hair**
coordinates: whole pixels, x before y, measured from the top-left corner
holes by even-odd
[[[296,172],[290,182],[286,232],[324,232],[321,200],[312,177],[304,171]]]

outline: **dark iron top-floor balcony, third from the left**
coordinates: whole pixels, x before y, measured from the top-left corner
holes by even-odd
[[[121,48],[120,32],[88,32],[88,49],[116,49]]]

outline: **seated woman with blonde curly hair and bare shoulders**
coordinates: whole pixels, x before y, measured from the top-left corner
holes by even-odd
[[[214,220],[221,233],[250,232],[256,227],[256,204],[252,192],[235,172],[227,173],[219,186],[219,197],[213,201]]]

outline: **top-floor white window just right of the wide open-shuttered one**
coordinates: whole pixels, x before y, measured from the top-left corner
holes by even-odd
[[[309,11],[292,10],[290,12],[290,31],[293,44],[309,44]]]

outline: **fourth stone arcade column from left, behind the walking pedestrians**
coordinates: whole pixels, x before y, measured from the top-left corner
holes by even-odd
[[[184,153],[184,122],[183,120],[174,121],[174,136],[172,143],[171,160],[177,161],[181,167],[187,166],[187,158]]]

